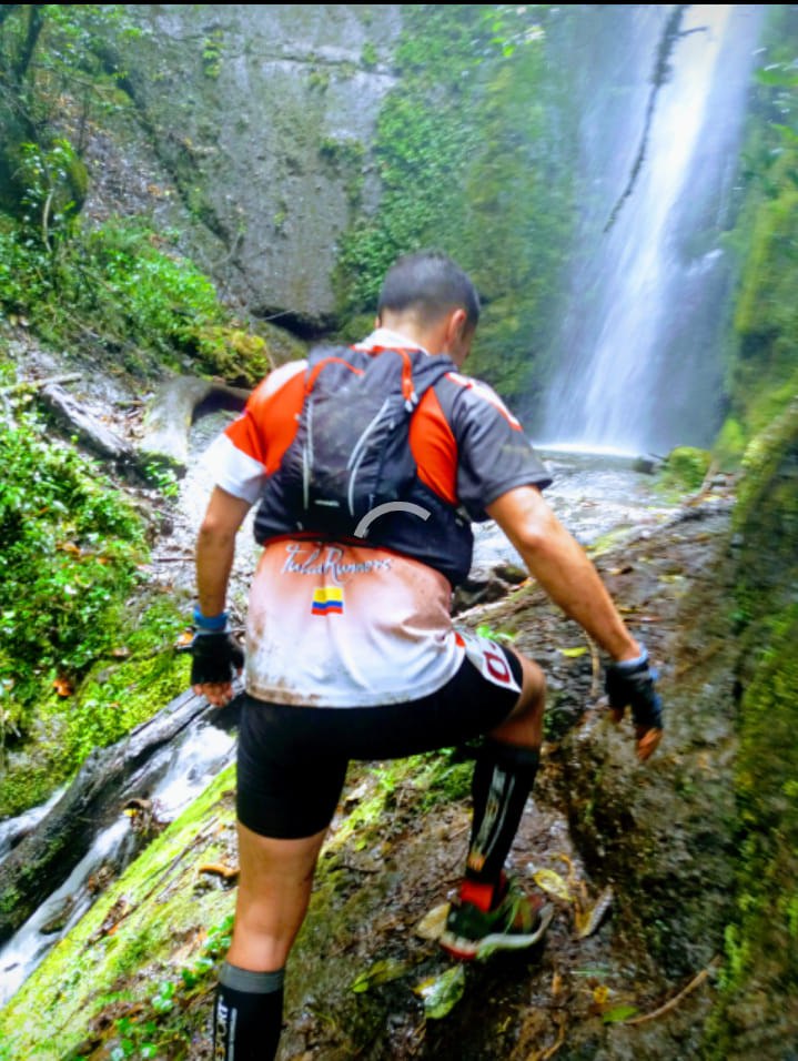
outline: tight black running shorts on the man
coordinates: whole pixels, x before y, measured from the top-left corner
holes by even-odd
[[[521,686],[521,660],[496,647]],[[437,693],[404,704],[295,707],[248,697],[239,732],[239,820],[275,839],[312,836],[335,812],[350,759],[449,748],[501,726],[517,699],[467,658]]]

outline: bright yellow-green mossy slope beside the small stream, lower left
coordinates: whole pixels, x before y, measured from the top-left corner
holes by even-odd
[[[234,892],[205,887],[206,878],[195,869],[218,855],[220,827],[232,827],[232,785],[231,768],[153,841],[23,984],[0,1017],[0,1042],[9,1043],[14,1057],[61,1061],[73,1055],[90,1018],[122,988],[141,1003],[142,1024],[160,1019],[150,1001],[159,986],[185,984],[191,978],[181,970],[193,969],[202,956],[202,933],[232,912]],[[113,934],[102,928],[107,918],[117,923]],[[178,990],[202,990],[219,953],[200,968],[202,983],[198,977]],[[110,1008],[113,1012],[113,1003]]]

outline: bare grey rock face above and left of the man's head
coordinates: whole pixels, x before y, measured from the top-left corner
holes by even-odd
[[[376,201],[365,150],[400,8],[141,4],[145,34],[112,42],[171,183],[156,212],[188,209],[192,256],[256,313],[334,309],[337,236]]]

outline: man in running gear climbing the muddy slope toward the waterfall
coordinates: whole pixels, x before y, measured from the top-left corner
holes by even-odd
[[[422,252],[390,270],[376,330],[351,348],[271,373],[211,451],[215,487],[196,546],[192,685],[232,696],[243,654],[228,633],[235,534],[259,503],[263,553],[246,630],[236,810],[235,929],[215,1003],[215,1057],[274,1057],[282,984],[347,761],[484,736],[458,902],[443,946],[525,947],[541,902],[504,875],[538,766],[545,679],[519,653],[454,629],[471,521],[494,519],[529,572],[609,656],[616,716],[637,755],[661,736],[645,649],[541,491],[519,423],[461,375],[479,316],[469,277]]]

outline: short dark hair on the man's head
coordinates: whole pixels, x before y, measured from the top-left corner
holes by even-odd
[[[479,295],[467,273],[441,251],[417,251],[400,257],[380,292],[383,310],[413,310],[424,321],[436,321],[452,309],[463,309],[471,327],[479,320]]]

